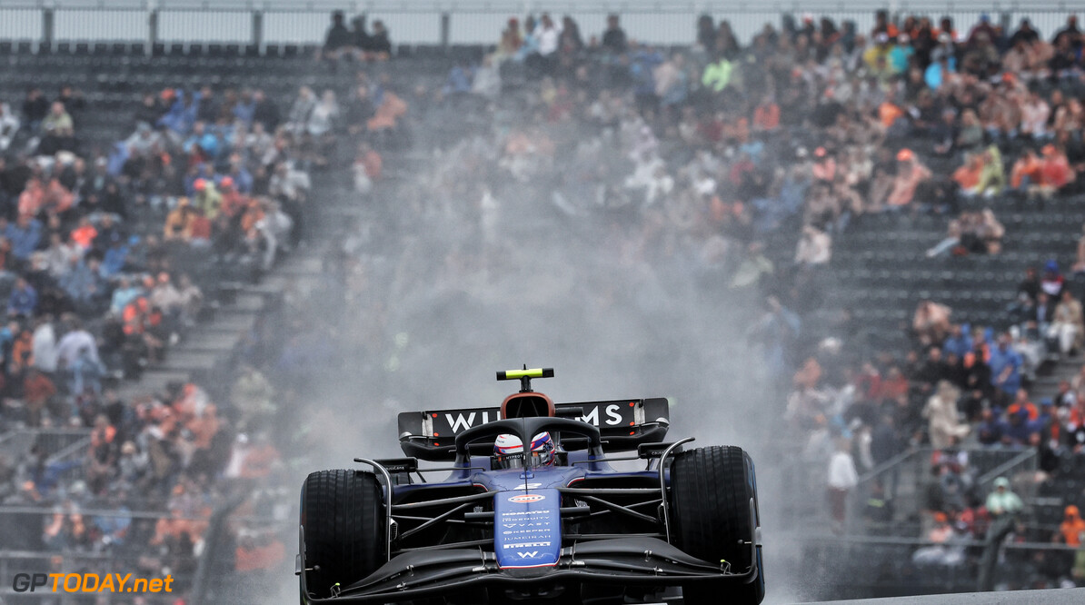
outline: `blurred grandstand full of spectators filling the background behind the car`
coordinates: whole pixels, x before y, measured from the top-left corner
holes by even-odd
[[[1080,374],[1082,346],[1062,350],[1047,326],[1031,326],[1035,307],[1011,309],[1022,292],[1037,296],[1021,284],[1025,269],[1043,272],[1052,259],[1059,289],[1085,294],[1085,194],[1072,176],[1085,168],[1085,63],[1080,33],[1067,35],[1068,63],[1051,52],[1061,8],[1014,7],[981,21],[983,9],[966,3],[950,15],[947,42],[906,24],[926,15],[942,27],[939,9],[921,4],[901,4],[885,22],[875,5],[804,8],[809,21],[790,7],[741,9],[710,14],[699,31],[695,8],[630,2],[618,44],[605,36],[604,5],[537,4],[531,15],[567,13],[579,29],[544,55],[541,30],[529,40],[519,29],[527,13],[378,2],[367,12],[387,26],[385,56],[324,43],[336,3],[92,4],[0,7],[0,202],[10,221],[0,300],[12,319],[0,332],[0,600],[26,597],[11,592],[17,571],[132,568],[170,570],[186,603],[273,598],[260,590],[283,576],[289,584],[296,539],[281,503],[296,500],[297,473],[310,469],[344,410],[329,385],[367,402],[424,400],[430,385],[400,368],[455,347],[457,359],[441,360],[447,373],[474,372],[494,357],[478,326],[518,338],[529,329],[502,318],[525,306],[562,326],[528,332],[544,343],[609,342],[603,318],[630,318],[636,327],[614,329],[629,346],[608,353],[611,365],[713,364],[718,376],[694,396],[746,379],[731,358],[757,360],[764,384],[750,410],[733,411],[761,425],[751,434],[765,437],[754,447],[766,449],[770,468],[761,471],[778,494],[768,518],[781,542],[797,544],[779,554],[780,568],[789,557],[817,562],[794,571],[804,597],[1085,584],[1081,542],[1063,531],[1067,506],[1085,506],[1085,452],[1072,440],[1085,423],[1085,385],[1074,381],[1073,397],[1060,390]],[[1038,41],[1027,39],[1025,63],[1009,63],[1023,16]],[[521,20],[515,31],[509,17]],[[909,83],[911,68],[926,76],[937,65],[940,48],[955,63],[945,83]],[[496,88],[483,86],[487,77]],[[28,99],[38,88],[53,101],[65,87],[72,132],[38,124],[51,110],[44,103],[39,115],[43,102]],[[937,106],[921,104],[923,90]],[[1042,132],[1023,130],[1030,91],[1049,112]],[[934,123],[947,108],[952,143],[940,150]],[[970,110],[983,120],[974,142],[960,138]],[[13,130],[2,130],[5,116]],[[193,134],[195,121],[209,140]],[[1047,144],[1055,159],[1044,162],[1064,160],[1070,180],[1046,193],[1013,184],[1025,151],[1043,155]],[[985,195],[956,179],[988,145],[1000,154],[985,162],[1001,185]],[[910,166],[930,173],[894,202]],[[240,191],[242,173],[250,191]],[[24,204],[35,175],[60,189]],[[111,182],[118,192],[107,202]],[[948,254],[929,254],[952,221],[984,208],[1003,234],[976,228],[974,242],[960,236]],[[12,244],[25,235],[23,215],[61,243],[40,236],[22,254]],[[79,250],[84,218],[94,235]],[[175,219],[177,236],[155,242]],[[76,256],[73,268],[50,266],[54,252]],[[538,258],[561,271],[520,269]],[[88,269],[106,259],[119,262],[114,271]],[[81,281],[67,278],[76,271]],[[182,274],[195,288],[187,298]],[[1054,287],[1055,275],[1039,276],[1036,288]],[[33,302],[20,279],[36,289]],[[527,280],[546,286],[538,299],[508,294]],[[570,319],[569,299],[582,318]],[[923,300],[952,314],[917,322]],[[729,312],[717,322],[720,308]],[[674,316],[695,326],[680,334],[718,337],[712,352],[646,327]],[[441,333],[427,334],[435,324]],[[980,332],[954,365],[930,361],[932,347],[952,348],[953,324]],[[1062,324],[1078,326],[1072,343],[1085,318]],[[1020,352],[1009,364],[1020,366],[1025,402],[981,372],[1011,327]],[[81,329],[100,364],[78,355]],[[75,335],[77,350],[60,366],[40,355],[50,333],[61,348]],[[974,375],[985,382],[969,383]],[[950,428],[922,413],[942,379],[959,391]],[[1011,428],[1011,416],[1031,410],[1025,428]],[[373,424],[392,415],[380,403],[362,413]],[[992,427],[999,433],[988,439]],[[820,498],[796,498],[826,491],[830,460],[843,460],[838,446],[857,471],[839,519]],[[1000,477],[1023,509],[1001,517],[1020,525],[996,540],[987,497]],[[830,581],[809,588],[807,578]]]

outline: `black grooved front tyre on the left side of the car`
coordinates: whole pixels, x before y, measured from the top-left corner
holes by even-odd
[[[385,562],[384,495],[366,471],[320,471],[302,486],[306,588],[317,597],[372,574]],[[304,596],[304,595],[303,595]]]

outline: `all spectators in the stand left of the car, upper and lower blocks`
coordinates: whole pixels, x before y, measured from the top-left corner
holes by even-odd
[[[4,549],[191,579],[212,510],[286,481],[276,388],[255,368],[217,401],[183,383],[118,392],[206,319],[219,283],[256,281],[305,245],[312,172],[346,170],[346,147],[366,141],[363,175],[380,179],[374,147],[405,106],[369,90],[359,81],[344,115],[334,93],[304,87],[293,105],[263,90],[167,88],[114,116],[112,143],[82,136],[106,110],[72,87],[3,105],[0,433],[40,429],[27,455],[0,450],[0,506],[15,511],[0,515]],[[248,338],[246,359],[278,345]],[[87,437],[86,450],[58,450],[66,435]],[[265,528],[228,529],[238,569],[285,561]]]

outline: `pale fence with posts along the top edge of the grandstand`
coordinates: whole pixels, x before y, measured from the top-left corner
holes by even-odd
[[[748,43],[766,24],[779,28],[784,18],[801,23],[804,15],[855,24],[869,31],[879,3],[860,2],[0,2],[0,40],[25,41],[31,49],[52,49],[61,42],[140,42],[146,52],[156,43],[219,43],[254,47],[269,44],[315,46],[323,41],[333,10],[347,20],[365,14],[369,23],[382,21],[397,44],[495,44],[510,17],[523,22],[529,14],[550,12],[572,17],[585,41],[599,37],[607,16],[617,13],[629,38],[651,44],[689,44],[695,23],[709,14],[727,20],[739,41]],[[959,31],[967,31],[981,15],[1006,27],[1022,17],[1049,37],[1064,23],[1072,5],[1024,1],[983,3],[895,2],[894,15],[949,16]]]

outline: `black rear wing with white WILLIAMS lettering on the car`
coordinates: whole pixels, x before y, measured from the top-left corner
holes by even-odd
[[[558,403],[559,416],[582,420],[599,427],[605,451],[633,451],[640,443],[662,441],[671,426],[671,407],[662,397]],[[501,420],[499,408],[430,410],[399,414],[399,447],[404,453],[427,461],[450,461],[456,455],[456,435],[472,426]],[[587,439],[563,435],[566,450],[587,447]],[[472,453],[489,453],[493,445],[480,445]]]

